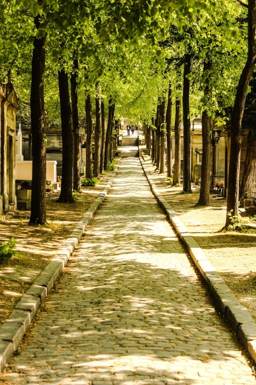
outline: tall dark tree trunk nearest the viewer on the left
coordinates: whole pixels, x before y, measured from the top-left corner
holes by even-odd
[[[40,17],[34,19],[40,28]],[[45,51],[46,36],[34,39],[31,64],[32,192],[30,225],[46,224]]]

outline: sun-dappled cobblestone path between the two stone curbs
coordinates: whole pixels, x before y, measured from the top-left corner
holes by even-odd
[[[48,297],[4,384],[255,384],[138,159]]]

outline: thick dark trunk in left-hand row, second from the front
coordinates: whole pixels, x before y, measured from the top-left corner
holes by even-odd
[[[62,68],[58,71],[59,101],[62,135],[62,178],[59,203],[74,203],[73,190],[73,132],[72,112],[69,98],[69,79]]]

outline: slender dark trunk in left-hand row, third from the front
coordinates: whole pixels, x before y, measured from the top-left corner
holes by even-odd
[[[72,106],[72,127],[73,127],[73,190],[81,192],[80,180],[80,137],[78,120],[78,95],[77,95],[77,71],[78,60],[73,62],[74,73],[70,78],[71,106]]]

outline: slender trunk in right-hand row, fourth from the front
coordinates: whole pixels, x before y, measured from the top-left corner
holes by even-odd
[[[176,98],[175,123],[174,123],[175,154],[174,154],[173,186],[176,186],[176,184],[180,184],[180,152],[181,152],[180,123],[181,123],[180,100],[179,98]]]

